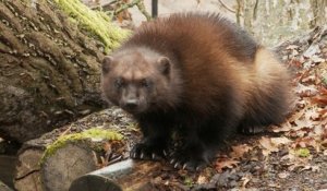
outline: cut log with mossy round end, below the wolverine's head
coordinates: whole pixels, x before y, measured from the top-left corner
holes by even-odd
[[[129,145],[140,138],[134,126],[121,109],[110,108],[25,142],[19,152],[15,189],[69,190],[77,177],[125,159]],[[104,135],[107,131],[119,131],[123,139]]]

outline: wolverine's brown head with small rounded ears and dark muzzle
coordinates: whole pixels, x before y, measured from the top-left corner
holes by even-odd
[[[102,61],[102,91],[131,114],[161,107],[171,94],[171,61],[144,48],[119,50]]]

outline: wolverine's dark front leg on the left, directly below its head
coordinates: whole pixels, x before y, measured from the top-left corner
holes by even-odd
[[[170,128],[161,122],[141,120],[138,121],[143,140],[131,151],[131,157],[137,159],[158,159],[167,155]]]

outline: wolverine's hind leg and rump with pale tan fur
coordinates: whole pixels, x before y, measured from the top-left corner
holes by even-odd
[[[254,88],[239,127],[245,133],[261,132],[264,127],[282,122],[291,104],[287,69],[270,51],[257,50],[254,70]]]

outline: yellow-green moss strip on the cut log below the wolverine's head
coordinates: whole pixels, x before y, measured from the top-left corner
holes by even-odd
[[[46,152],[40,160],[43,162],[53,155],[59,148],[64,147],[69,142],[86,141],[86,140],[122,140],[123,135],[110,130],[104,130],[100,128],[93,128],[81,133],[73,133],[58,138],[58,140],[51,145],[47,146]]]

